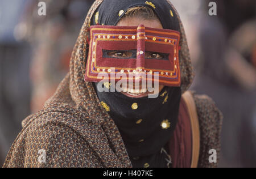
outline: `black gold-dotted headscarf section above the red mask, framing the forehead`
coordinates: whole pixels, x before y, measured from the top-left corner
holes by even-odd
[[[92,25],[117,25],[129,8],[137,6],[152,8],[164,29],[180,31],[174,8],[167,1],[159,0],[105,0],[94,13]]]

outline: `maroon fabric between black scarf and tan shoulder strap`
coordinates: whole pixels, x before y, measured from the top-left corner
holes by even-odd
[[[192,159],[192,129],[183,99],[180,102],[178,123],[169,142],[173,168],[190,168]]]

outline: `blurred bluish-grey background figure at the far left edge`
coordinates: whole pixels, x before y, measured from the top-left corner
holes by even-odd
[[[20,23],[26,0],[0,1],[0,165],[30,114],[31,48]]]

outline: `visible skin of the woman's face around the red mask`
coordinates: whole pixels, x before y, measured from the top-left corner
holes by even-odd
[[[150,27],[150,28],[159,28],[163,29],[162,24],[158,19],[142,19],[142,18],[136,18],[136,17],[131,17],[131,18],[124,18],[119,21],[117,26],[139,26],[143,24],[145,27]],[[121,54],[113,54],[113,56],[117,56]],[[156,53],[146,53],[145,54],[146,58],[161,58],[159,54]],[[163,85],[159,85],[159,92],[162,91],[164,88]],[[135,89],[135,87],[134,87]],[[140,91],[136,92],[135,90],[132,89],[127,89],[127,92],[122,92],[123,95],[126,95],[128,97],[135,97],[135,98],[141,98],[141,97],[146,97],[149,94],[152,94],[154,92],[148,92],[145,89],[142,89],[142,86],[140,85]],[[146,92],[145,92],[146,91]]]

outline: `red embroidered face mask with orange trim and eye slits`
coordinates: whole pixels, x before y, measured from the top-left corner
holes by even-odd
[[[180,32],[170,29],[93,25],[85,81],[100,82],[100,73],[144,73],[154,81],[158,73],[160,85],[179,87],[179,41]]]

